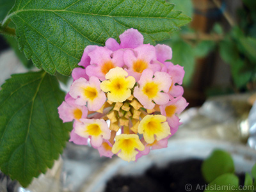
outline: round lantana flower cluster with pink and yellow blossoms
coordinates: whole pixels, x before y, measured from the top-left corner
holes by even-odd
[[[125,161],[167,147],[188,105],[183,67],[171,59],[170,47],[143,44],[136,29],[120,35],[120,44],[109,38],[105,47],[88,45],[58,108],[63,122],[74,121],[70,141]]]

